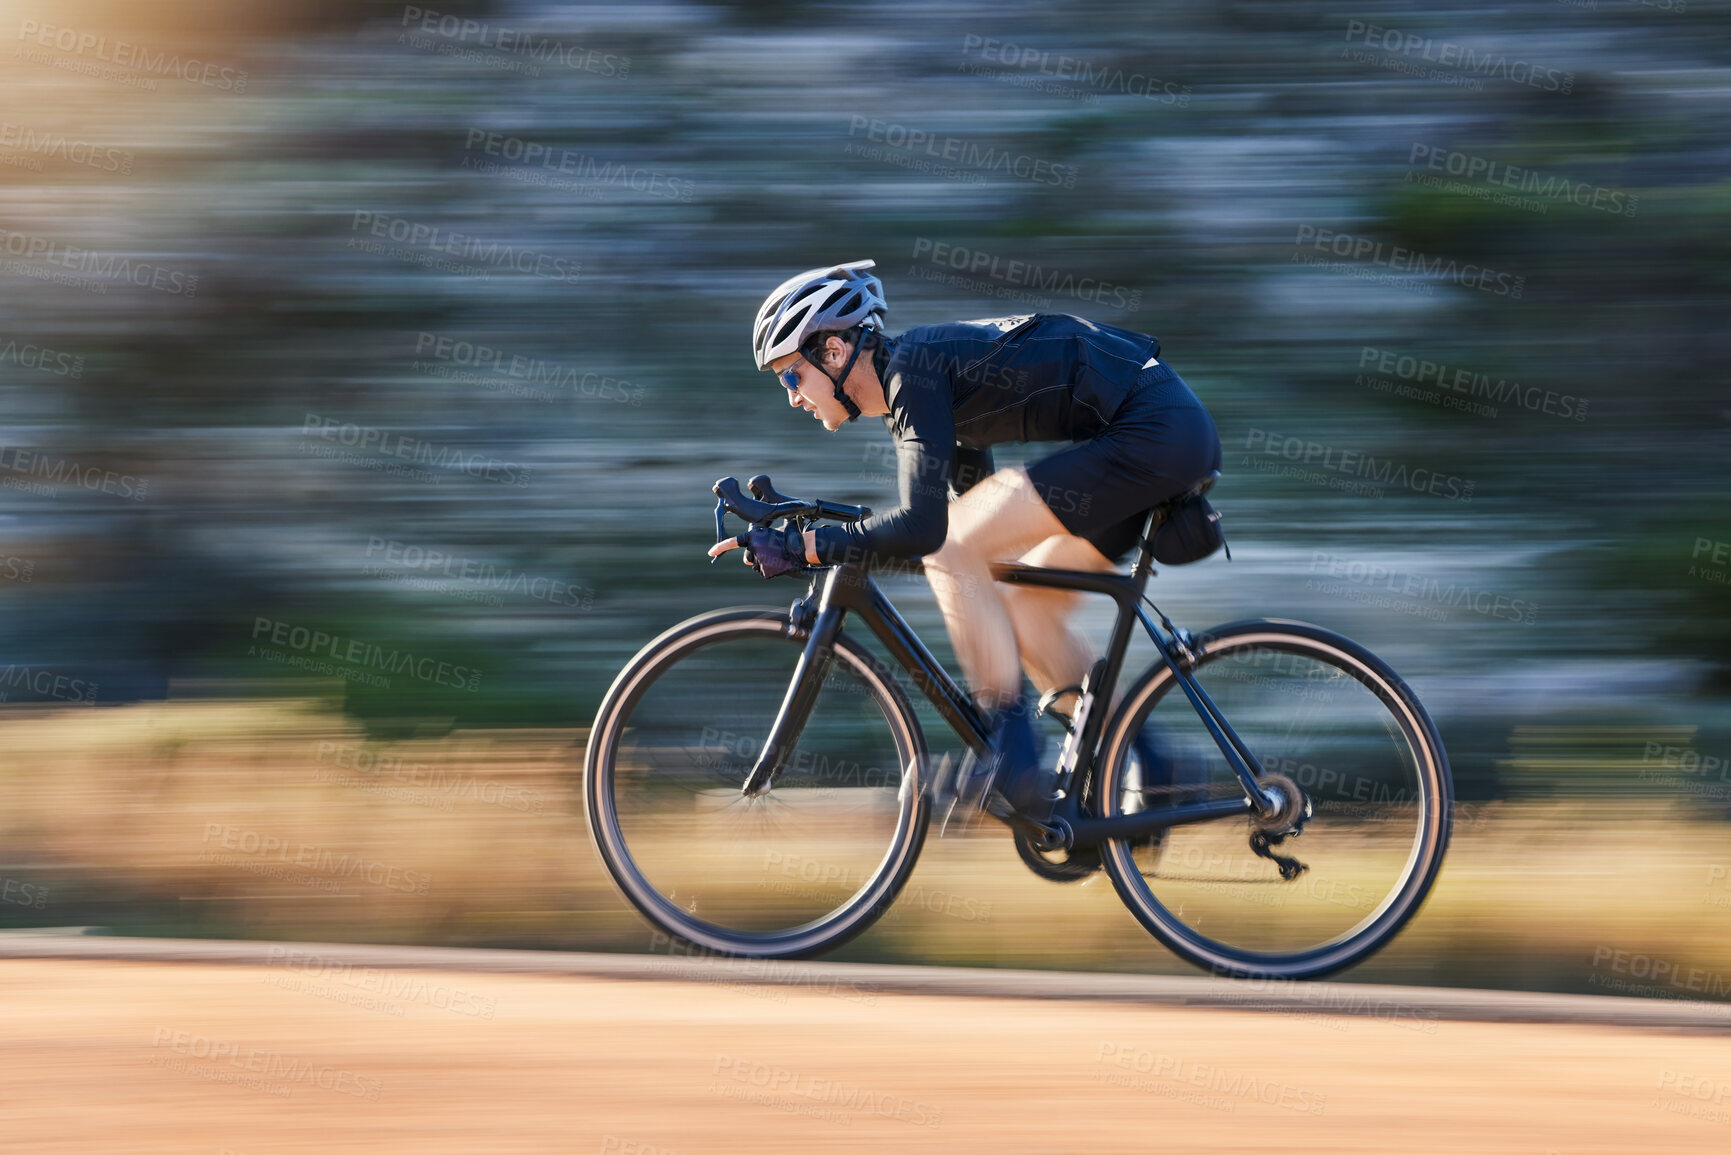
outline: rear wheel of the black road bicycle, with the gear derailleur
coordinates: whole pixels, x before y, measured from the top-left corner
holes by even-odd
[[[1215,973],[1312,978],[1361,961],[1412,916],[1442,862],[1451,783],[1435,726],[1383,661],[1314,625],[1226,625],[1194,649],[1191,677],[1253,769],[1297,783],[1310,816],[1264,847],[1288,859],[1286,871],[1257,854],[1248,816],[1111,842],[1104,864],[1118,897],[1167,947]],[[1104,814],[1243,797],[1165,665],[1125,694],[1096,797]]]

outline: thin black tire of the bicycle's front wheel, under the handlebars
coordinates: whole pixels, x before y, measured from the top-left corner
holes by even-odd
[[[717,956],[801,958],[834,949],[867,930],[895,902],[907,883],[930,821],[930,803],[926,791],[921,790],[924,734],[890,668],[846,634],[838,634],[831,672],[841,670],[860,681],[888,722],[890,741],[895,746],[900,778],[895,793],[895,831],[890,845],[871,874],[862,878],[859,890],[841,906],[793,926],[772,930],[729,926],[684,909],[673,895],[663,894],[656,881],[647,876],[639,862],[642,849],[639,849],[639,855],[632,854],[632,838],[621,826],[618,798],[621,736],[644,696],[680,661],[705,648],[743,639],[784,642],[789,667],[805,646],[803,637],[793,637],[791,618],[786,611],[718,610],[668,629],[625,665],[602,698],[590,729],[583,755],[585,809],[601,861],[625,899],[653,926]],[[777,701],[784,689],[786,682],[774,687]],[[774,793],[772,790],[770,795]],[[744,800],[743,803],[755,802],[760,800]]]

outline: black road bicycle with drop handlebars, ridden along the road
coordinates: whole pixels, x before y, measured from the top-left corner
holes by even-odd
[[[717,539],[725,513],[801,530],[871,514],[784,497],[767,476],[750,488],[717,481]],[[1144,596],[1172,506],[1149,513],[1129,575],[992,568],[1118,608],[1063,719],[1061,800],[1046,824],[1009,819],[1016,850],[1054,881],[1104,868],[1142,926],[1213,973],[1350,966],[1400,930],[1442,862],[1451,781],[1437,727],[1388,665],[1329,630],[1172,625]],[[843,630],[850,613],[905,684]],[[1158,660],[1116,696],[1137,622]],[[912,873],[931,816],[909,686],[985,752],[981,712],[853,563],[815,570],[786,611],[718,610],[644,646],[585,753],[589,824],[625,897],[715,954],[807,956],[864,932]]]

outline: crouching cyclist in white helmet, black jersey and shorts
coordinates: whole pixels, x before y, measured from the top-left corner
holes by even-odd
[[[1158,360],[1151,336],[1032,313],[888,338],[883,282],[866,272],[872,267],[827,265],[777,286],[758,308],[751,352],[786,386],[788,403],[831,433],[862,416],[885,419],[900,507],[807,530],[803,540],[791,526],[751,530],[717,542],[710,556],[748,547],[746,561],[763,577],[923,558],[992,724],[990,753],[971,764],[957,793],[975,802],[995,791],[1009,809],[1044,821],[1051,778],[1021,667],[1061,701],[1080,693],[1094,655],[1068,629],[1080,594],[999,587],[988,566],[1116,568],[1153,506],[1220,468],[1220,438],[1196,395]],[[1026,468],[994,469],[990,447],[1002,442],[1077,443]],[[1142,758],[1158,760],[1151,750]]]

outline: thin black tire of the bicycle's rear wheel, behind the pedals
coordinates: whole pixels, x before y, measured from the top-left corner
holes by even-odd
[[[1348,932],[1302,951],[1246,949],[1201,933],[1181,916],[1184,904],[1179,904],[1179,913],[1174,913],[1155,895],[1155,888],[1149,887],[1148,878],[1144,878],[1134,859],[1130,843],[1111,840],[1103,849],[1103,859],[1118,899],[1163,945],[1215,975],[1234,978],[1316,978],[1362,961],[1381,949],[1418,911],[1435,881],[1449,845],[1452,783],[1447,753],[1444,752],[1435,724],[1411,687],[1385,661],[1333,630],[1284,620],[1234,622],[1198,636],[1193,649],[1198,656],[1196,674],[1205,672],[1208,665],[1231,655],[1269,651],[1274,655],[1302,656],[1316,661],[1319,667],[1335,668],[1367,689],[1388,710],[1390,719],[1414,755],[1412,778],[1418,786],[1411,803],[1414,803],[1412,809],[1418,814],[1418,821],[1412,847],[1399,873],[1397,885],[1387,892],[1387,897],[1374,906],[1369,916],[1362,918]],[[1222,672],[1220,677],[1231,675]],[[1106,727],[1101,741],[1101,757],[1091,781],[1096,805],[1104,814],[1115,816],[1123,812],[1120,776],[1127,765],[1125,753],[1144,719],[1175,686],[1177,681],[1165,663],[1156,663],[1123,694],[1118,710]],[[1179,701],[1186,710],[1189,708],[1189,703],[1182,701],[1182,694]],[[1222,712],[1227,722],[1232,722],[1231,712]],[[1387,726],[1387,720],[1383,724]],[[1276,729],[1271,727],[1269,732],[1272,734]],[[1252,741],[1250,745],[1252,752],[1257,753],[1257,743]],[[1224,758],[1220,758],[1220,764],[1224,765]],[[1258,767],[1258,774],[1264,769]],[[1406,798],[1395,802],[1402,807],[1407,805]],[[1319,805],[1326,807],[1329,803],[1322,802]],[[1366,823],[1374,821],[1366,819]],[[1343,819],[1343,823],[1350,824],[1352,819]],[[1168,833],[1175,835],[1184,829],[1194,828],[1174,828]],[[1298,838],[1298,842],[1302,843],[1303,840]],[[1303,847],[1297,847],[1295,843],[1293,854],[1300,852],[1303,852]],[[1236,881],[1248,885],[1250,881],[1277,883],[1283,880],[1246,880],[1239,876]],[[1279,894],[1279,890],[1276,888],[1272,894]],[[1194,914],[1191,921],[1200,925],[1203,918]],[[1227,932],[1231,933],[1232,928],[1229,926]]]

